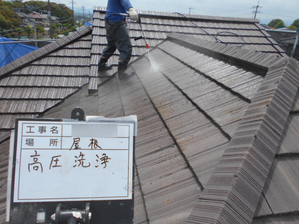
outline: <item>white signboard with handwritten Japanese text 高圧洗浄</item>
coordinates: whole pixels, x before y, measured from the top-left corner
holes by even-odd
[[[132,199],[133,124],[19,121],[13,202]]]

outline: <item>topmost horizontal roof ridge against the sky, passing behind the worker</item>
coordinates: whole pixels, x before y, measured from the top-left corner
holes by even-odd
[[[106,12],[107,7],[94,6],[93,10]],[[179,17],[185,19],[182,16],[179,16],[176,13],[165,13],[165,12],[155,12],[155,11],[145,11],[137,10],[138,14],[147,15],[147,16],[162,16],[162,17]],[[239,17],[224,17],[224,16],[203,16],[195,14],[184,14],[189,19],[198,19],[198,20],[218,20],[218,21],[230,21],[230,22],[250,22],[250,23],[259,23],[258,19],[251,18],[239,18]]]

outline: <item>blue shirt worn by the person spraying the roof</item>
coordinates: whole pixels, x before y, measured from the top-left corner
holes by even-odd
[[[129,8],[132,8],[132,4],[129,0],[108,0],[107,11],[105,19],[112,13],[127,13]],[[118,22],[121,19],[126,19],[125,16],[113,15],[109,17],[109,21]]]

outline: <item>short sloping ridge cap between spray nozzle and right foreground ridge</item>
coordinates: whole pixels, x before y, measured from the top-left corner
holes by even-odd
[[[262,68],[264,70],[268,70],[272,65],[284,59],[282,56],[275,56],[273,54],[263,53],[257,50],[254,51],[242,47],[212,42],[181,33],[170,33],[167,35],[167,38],[184,43],[185,45],[191,45],[193,49],[208,51],[209,53],[234,59],[250,66],[254,65],[255,67]]]

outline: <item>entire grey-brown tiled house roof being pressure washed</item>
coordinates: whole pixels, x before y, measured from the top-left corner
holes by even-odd
[[[186,15],[209,35],[177,14],[138,11],[150,51],[132,25],[135,76],[120,81],[119,52],[97,72],[105,10],[0,68],[0,218],[14,120],[70,118],[81,107],[138,117],[135,224],[298,224],[299,62],[256,19]],[[245,45],[228,33],[218,43],[223,31]]]

